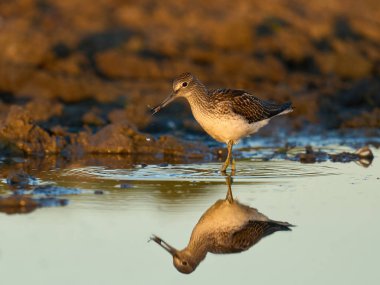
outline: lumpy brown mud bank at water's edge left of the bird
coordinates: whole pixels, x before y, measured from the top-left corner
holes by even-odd
[[[156,140],[138,132],[126,120],[106,125],[95,133],[87,130],[73,134],[60,127],[48,132],[31,119],[27,110],[19,106],[12,106],[6,118],[0,122],[0,146],[13,154],[19,150],[26,154],[61,153],[68,157],[84,153],[153,153],[201,157],[207,152],[206,147],[172,137],[164,136]]]

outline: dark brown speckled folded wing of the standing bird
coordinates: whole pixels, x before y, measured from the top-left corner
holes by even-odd
[[[231,104],[232,111],[244,117],[248,123],[269,119],[291,108],[290,102],[285,104],[271,103],[244,90],[216,89],[211,90],[210,94],[216,102],[228,101]]]

